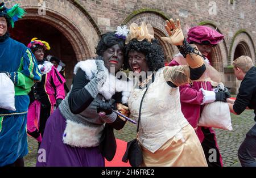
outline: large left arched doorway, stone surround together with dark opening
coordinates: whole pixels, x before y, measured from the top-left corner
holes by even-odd
[[[19,3],[20,7],[27,12],[15,23],[12,32],[17,34],[14,35],[16,38],[21,36],[21,41],[25,45],[32,37],[48,41],[52,47],[51,54],[60,57],[65,63],[67,84],[71,86],[73,67],[78,61],[95,56],[94,46],[101,32],[88,12],[75,1],[44,0],[43,2],[46,5],[44,7],[46,14],[43,15],[39,14],[41,6],[38,1],[10,0],[6,2],[8,8]],[[23,28],[26,28],[26,31]]]

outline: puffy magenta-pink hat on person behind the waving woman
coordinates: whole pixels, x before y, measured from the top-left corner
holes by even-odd
[[[215,29],[207,26],[196,26],[189,29],[187,41],[188,43],[194,41],[199,44],[203,41],[209,41],[210,44],[216,45],[222,39],[224,39],[224,36]]]

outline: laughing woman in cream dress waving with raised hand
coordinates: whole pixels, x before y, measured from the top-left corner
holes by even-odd
[[[179,86],[198,80],[208,66],[197,48],[184,39],[178,19],[177,24],[167,20],[166,30],[170,37],[162,39],[176,45],[188,65],[164,67],[163,49],[150,24],[131,24],[126,39],[125,63],[135,75],[128,100],[130,117],[138,121],[141,110],[141,166],[207,166],[200,141],[181,112]]]

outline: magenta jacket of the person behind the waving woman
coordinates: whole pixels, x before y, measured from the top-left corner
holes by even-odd
[[[174,57],[169,66],[177,66],[180,65],[175,59],[180,58],[181,56]],[[185,59],[184,59],[185,60]],[[204,134],[201,132],[200,126],[197,127],[197,122],[199,121],[203,105],[203,91],[200,88],[204,88],[204,90],[212,90],[212,85],[210,82],[193,82],[193,84],[185,84],[184,86],[180,86],[180,103],[181,103],[181,111],[185,118],[187,118],[189,124],[196,130],[197,136],[200,139],[200,142],[203,142]],[[210,129],[211,133],[214,132]]]

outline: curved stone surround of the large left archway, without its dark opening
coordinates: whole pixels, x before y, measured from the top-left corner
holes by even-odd
[[[75,1],[69,0],[56,0],[50,1],[45,0],[45,12],[44,15],[39,15],[39,1],[7,1],[6,6],[11,7],[15,3],[19,3],[23,7],[27,14],[23,19],[20,19],[20,23],[27,22],[39,22],[41,24],[46,24],[46,26],[52,27],[59,31],[61,35],[67,39],[67,43],[70,44],[74,58],[70,59],[72,62],[66,63],[66,65],[71,65],[68,73],[69,82],[71,84],[73,66],[77,61],[85,60],[95,56],[94,46],[97,44],[100,30],[96,23],[90,17],[88,13],[82,7],[76,5]],[[44,29],[41,29],[44,31]],[[13,29],[15,33],[15,28]],[[63,45],[63,44],[59,44]],[[68,50],[68,49],[67,49]]]

